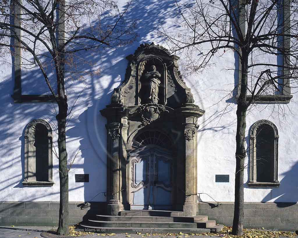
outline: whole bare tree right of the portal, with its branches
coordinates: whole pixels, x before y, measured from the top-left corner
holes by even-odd
[[[183,52],[187,73],[211,66],[212,57],[230,51],[239,59],[237,102],[235,210],[232,233],[243,235],[243,176],[246,114],[255,102],[281,105],[297,87],[296,0],[194,0],[179,8],[179,33],[159,31],[173,52]],[[292,19],[292,21],[291,21]],[[184,28],[184,30],[182,30]],[[266,59],[264,60],[264,56]],[[270,60],[271,59],[271,60]],[[270,60],[270,62],[269,62]]]

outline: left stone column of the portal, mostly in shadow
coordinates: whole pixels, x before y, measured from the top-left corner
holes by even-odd
[[[119,138],[120,123],[108,123],[107,127],[107,212],[118,215],[119,201]]]

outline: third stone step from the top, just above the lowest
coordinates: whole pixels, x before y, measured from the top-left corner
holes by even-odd
[[[94,227],[127,227],[127,228],[197,228],[197,223],[186,222],[143,222],[143,221],[98,221],[88,219],[90,226]],[[212,226],[215,226],[212,225]]]

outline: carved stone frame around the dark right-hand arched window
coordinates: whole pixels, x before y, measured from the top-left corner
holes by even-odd
[[[274,182],[257,182],[257,151],[256,151],[256,133],[257,129],[267,124],[272,127],[274,131]],[[278,130],[277,127],[269,120],[258,120],[252,125],[250,130],[250,156],[249,156],[249,183],[250,187],[278,187],[280,182],[278,181]]]

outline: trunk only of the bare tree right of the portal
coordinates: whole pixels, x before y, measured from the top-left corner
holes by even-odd
[[[246,50],[242,51],[241,61],[241,85],[240,95],[237,102],[237,131],[236,131],[236,171],[235,171],[235,206],[232,234],[243,235],[243,219],[244,219],[244,160],[246,156],[245,148],[245,130],[246,130],[246,111],[247,111],[247,68],[248,54]]]

